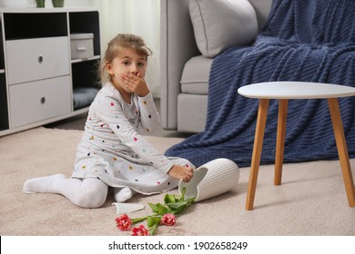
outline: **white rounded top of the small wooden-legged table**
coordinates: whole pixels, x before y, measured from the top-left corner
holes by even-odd
[[[355,88],[331,83],[266,82],[242,86],[238,93],[259,99],[325,99],[355,95]]]

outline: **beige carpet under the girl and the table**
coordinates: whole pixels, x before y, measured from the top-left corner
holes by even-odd
[[[112,191],[100,209],[77,208],[56,194],[25,194],[23,182],[54,173],[71,175],[82,132],[37,128],[0,138],[0,235],[129,235],[117,230]],[[159,151],[178,138],[147,137]],[[355,160],[351,160],[355,175]],[[284,166],[283,184],[273,186],[273,167],[262,166],[255,210],[246,211],[249,168],[240,170],[237,187],[193,204],[176,227],[160,226],[158,235],[355,235],[355,208],[346,199],[339,161]],[[173,190],[172,192],[177,192]],[[150,214],[148,202],[164,194],[135,196]]]

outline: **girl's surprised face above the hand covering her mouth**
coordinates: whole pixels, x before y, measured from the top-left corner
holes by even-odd
[[[117,57],[106,65],[107,72],[111,75],[111,82],[119,89],[125,89],[121,79],[122,74],[131,73],[141,78],[146,76],[147,56],[137,54],[131,48],[124,49]]]

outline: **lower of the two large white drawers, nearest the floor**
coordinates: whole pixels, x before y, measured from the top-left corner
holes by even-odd
[[[10,85],[11,128],[71,112],[70,76]]]

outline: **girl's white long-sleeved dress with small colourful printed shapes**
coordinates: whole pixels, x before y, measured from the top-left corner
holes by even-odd
[[[96,178],[115,188],[128,187],[143,194],[177,187],[178,180],[167,175],[173,164],[194,167],[182,158],[167,158],[144,136],[159,124],[151,93],[132,93],[126,103],[112,83],[97,93],[91,104],[83,137],[77,145],[73,178]]]

